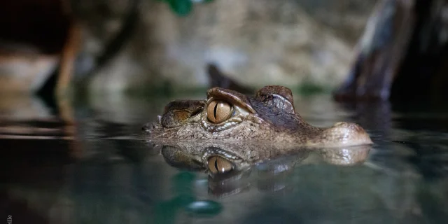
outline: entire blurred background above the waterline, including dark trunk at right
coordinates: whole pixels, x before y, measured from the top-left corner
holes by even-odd
[[[249,87],[337,99],[447,95],[443,0],[1,4],[1,92],[192,90],[214,64]]]

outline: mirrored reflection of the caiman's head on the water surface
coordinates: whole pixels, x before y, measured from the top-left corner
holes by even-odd
[[[267,174],[258,181],[259,188],[280,190],[283,177],[311,154],[332,165],[351,166],[363,163],[371,146],[344,148],[303,148],[266,144],[229,144],[219,142],[159,143],[165,161],[173,167],[209,172],[209,190],[225,196],[248,188],[248,176],[255,167]],[[318,162],[318,161],[314,161]]]

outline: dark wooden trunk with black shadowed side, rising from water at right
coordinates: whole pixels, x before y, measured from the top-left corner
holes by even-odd
[[[446,7],[443,0],[378,1],[335,99],[444,104]]]

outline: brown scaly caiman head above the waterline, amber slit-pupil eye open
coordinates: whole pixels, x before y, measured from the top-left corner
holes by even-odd
[[[207,100],[176,100],[165,106],[155,123],[143,128],[148,139],[220,140],[288,143],[300,146],[354,146],[372,144],[362,127],[336,123],[326,129],[313,127],[295,112],[287,87],[262,87],[247,97],[214,87]]]

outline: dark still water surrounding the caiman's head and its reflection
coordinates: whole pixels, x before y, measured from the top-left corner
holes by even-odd
[[[287,172],[258,165],[226,182],[174,168],[142,141],[141,125],[173,98],[0,104],[1,222],[447,223],[446,111],[296,97],[313,125],[365,127],[375,143],[365,162],[311,153]]]

